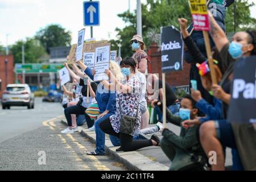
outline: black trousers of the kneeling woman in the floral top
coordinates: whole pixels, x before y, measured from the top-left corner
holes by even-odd
[[[111,123],[110,118],[106,118],[100,123],[101,130],[109,135],[114,135],[121,140],[121,148],[123,151],[135,151],[139,148],[152,146],[151,140],[133,140],[133,136],[125,133],[115,133]]]

